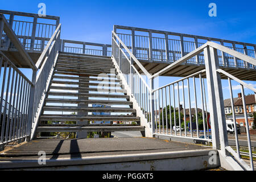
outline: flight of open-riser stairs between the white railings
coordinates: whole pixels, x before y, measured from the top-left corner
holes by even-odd
[[[60,53],[36,132],[79,131],[144,127],[110,57]]]

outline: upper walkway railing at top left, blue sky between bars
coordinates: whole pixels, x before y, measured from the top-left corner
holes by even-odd
[[[10,27],[15,32],[20,43],[28,52],[42,52],[60,23],[60,18],[58,16],[47,15],[40,17],[38,14],[7,10],[0,10],[0,14],[9,16],[7,22],[9,22]],[[19,20],[20,18],[28,20]],[[42,20],[48,20],[49,23],[42,23]],[[1,38],[0,49],[15,49],[13,44],[10,43],[8,36],[3,34]]]

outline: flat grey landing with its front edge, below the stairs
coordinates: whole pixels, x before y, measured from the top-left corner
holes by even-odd
[[[118,167],[118,170],[149,171],[220,166],[219,160],[208,164],[209,151],[215,150],[156,138],[38,139],[10,149],[0,154],[2,169],[114,170]],[[38,164],[39,151],[46,152],[46,165]]]

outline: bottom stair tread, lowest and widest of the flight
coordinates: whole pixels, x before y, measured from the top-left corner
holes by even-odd
[[[114,131],[144,131],[144,126],[39,126],[37,132],[79,132],[79,131],[104,131],[104,132],[114,132]]]

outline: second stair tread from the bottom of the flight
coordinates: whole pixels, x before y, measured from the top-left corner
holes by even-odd
[[[123,115],[87,115],[74,116],[67,114],[47,114],[41,115],[40,121],[140,121],[139,117],[123,116]]]

